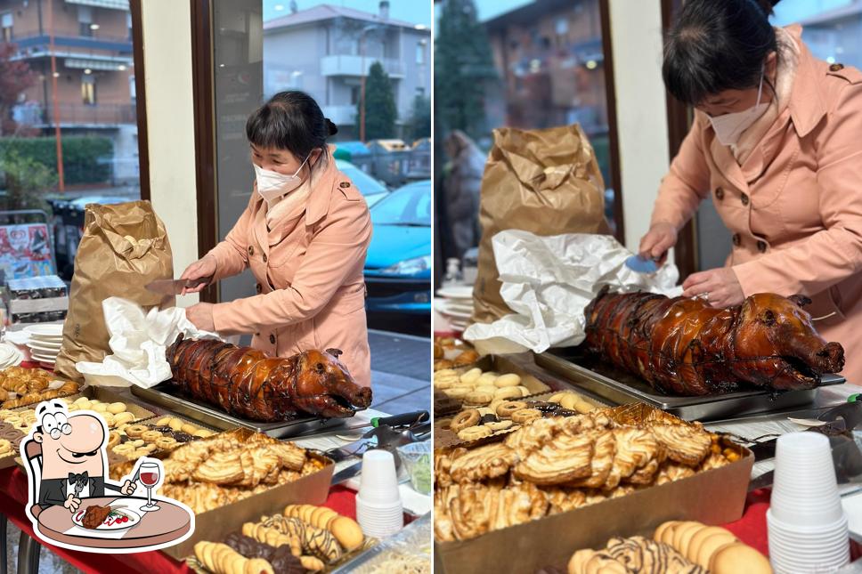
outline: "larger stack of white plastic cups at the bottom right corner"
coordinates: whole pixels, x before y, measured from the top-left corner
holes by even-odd
[[[830,572],[850,562],[847,516],[823,434],[778,439],[767,523],[769,560],[777,574]]]

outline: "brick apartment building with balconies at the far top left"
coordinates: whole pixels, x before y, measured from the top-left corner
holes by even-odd
[[[0,41],[17,47],[37,82],[13,118],[46,134],[110,137],[115,183],[134,183],[137,164],[132,20],[128,0],[0,0]],[[52,58],[54,70],[52,71]],[[56,93],[53,93],[53,77]]]

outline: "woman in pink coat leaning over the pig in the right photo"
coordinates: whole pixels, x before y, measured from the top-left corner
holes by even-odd
[[[639,251],[662,260],[707,196],[733,232],[727,266],[683,283],[714,307],[808,295],[820,334],[862,383],[862,73],[817,60],[775,1],[689,0],[665,47],[671,94],[695,120]]]

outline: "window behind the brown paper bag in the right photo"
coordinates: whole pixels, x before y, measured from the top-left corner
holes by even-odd
[[[435,170],[440,170],[435,174],[441,174],[453,159],[445,153],[445,142],[456,129],[476,144],[474,157],[459,161],[464,171],[470,170],[469,177],[479,181],[494,129],[540,129],[577,122],[595,150],[605,182],[606,219],[614,233],[622,229],[622,198],[612,177],[601,1],[510,3],[516,7],[504,12],[495,0],[440,4],[434,65],[439,78],[435,143],[441,151],[435,154]],[[478,15],[447,10],[450,4],[474,4]],[[539,9],[539,4],[558,7]],[[496,15],[480,19],[491,11]],[[445,36],[441,36],[443,30]],[[444,177],[437,181],[446,185]],[[437,221],[449,224],[443,216]],[[460,258],[478,243],[478,222],[465,218],[459,224],[474,231],[456,236],[454,225],[440,230],[441,245],[435,252],[440,269],[447,258]]]

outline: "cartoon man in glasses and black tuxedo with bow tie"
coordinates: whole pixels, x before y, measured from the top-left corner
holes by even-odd
[[[39,425],[33,440],[42,445],[42,479],[38,505],[63,505],[77,511],[81,498],[103,497],[105,491],[130,496],[134,482],[122,486],[105,480],[105,424],[95,414],[69,416],[59,401],[37,408]]]

